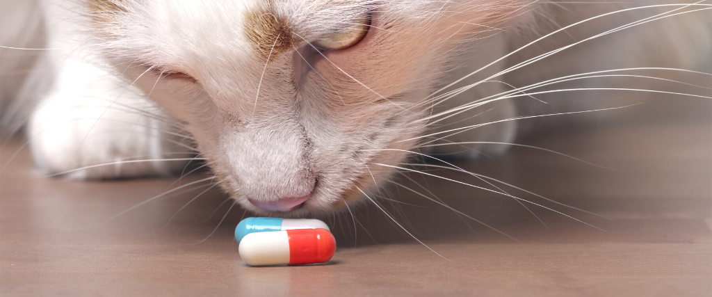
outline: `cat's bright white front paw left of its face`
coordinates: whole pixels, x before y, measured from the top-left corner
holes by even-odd
[[[70,179],[165,176],[190,157],[185,139],[138,88],[67,58],[28,125],[37,167]]]

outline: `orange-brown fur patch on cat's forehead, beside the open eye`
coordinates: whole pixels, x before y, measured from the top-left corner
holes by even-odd
[[[289,19],[274,12],[273,0],[265,2],[264,6],[247,11],[245,16],[247,38],[263,60],[289,51],[298,43],[292,34]]]

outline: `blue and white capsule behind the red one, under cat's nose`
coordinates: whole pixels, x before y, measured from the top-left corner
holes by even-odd
[[[242,220],[235,229],[235,239],[239,244],[243,237],[254,232],[286,231],[292,229],[329,229],[318,219],[282,219],[249,217]]]

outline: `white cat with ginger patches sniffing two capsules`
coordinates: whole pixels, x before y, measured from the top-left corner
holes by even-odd
[[[613,76],[627,68],[709,72],[710,7],[0,0],[0,123],[6,134],[24,127],[46,174],[168,176],[201,160],[255,214],[330,213],[375,199],[412,156],[501,154],[533,125],[565,123],[521,117],[616,108],[644,93],[558,90],[631,88]],[[578,76],[543,83],[566,75]]]

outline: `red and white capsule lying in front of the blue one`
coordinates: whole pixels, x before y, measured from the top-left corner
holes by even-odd
[[[256,232],[240,241],[239,251],[251,266],[324,263],[334,256],[336,240],[326,229]]]

